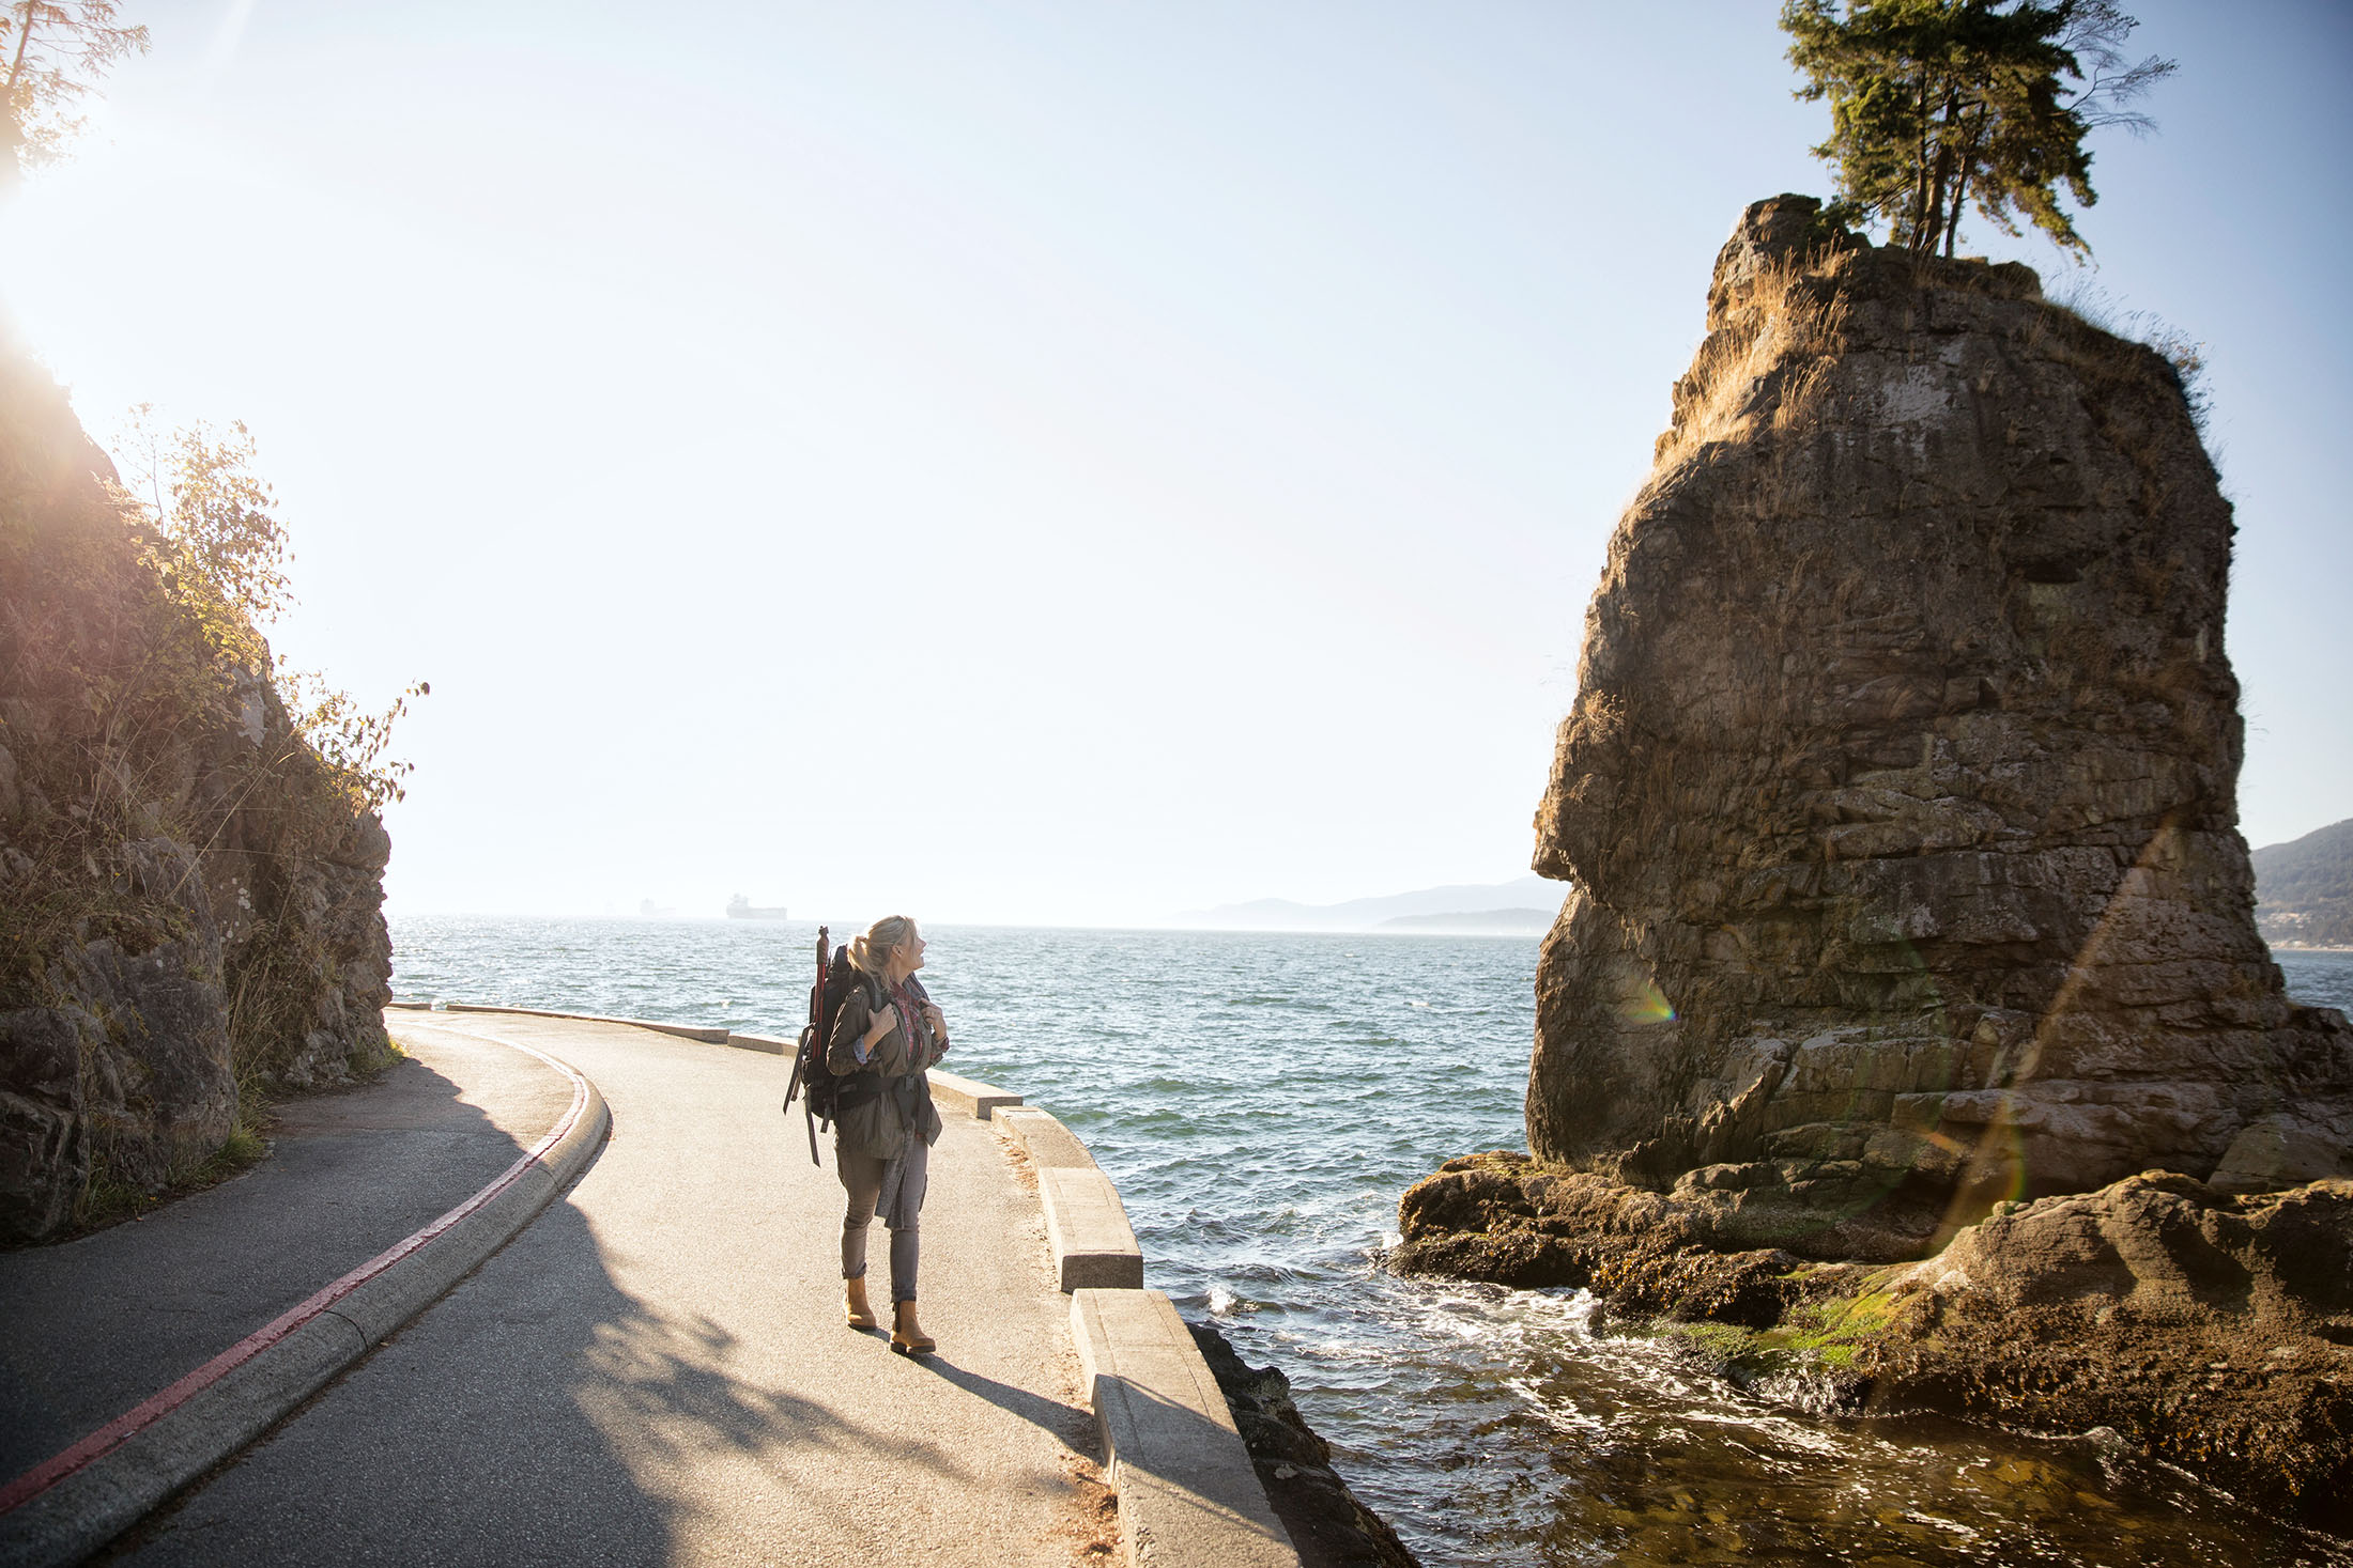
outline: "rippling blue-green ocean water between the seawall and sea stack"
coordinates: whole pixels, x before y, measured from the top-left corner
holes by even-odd
[[[2212,1563],[2353,1568],[2353,1544],[2080,1439],[1824,1418],[1577,1291],[1398,1279],[1398,1197],[1522,1147],[1537,943],[927,929],[948,1067],[1068,1121],[1118,1180],[1148,1284],[1292,1378],[1334,1462],[1440,1563]],[[798,1032],[800,922],[393,922],[402,999]],[[2280,954],[2353,1009],[2353,954]],[[776,1157],[805,1159],[800,1119]],[[816,1262],[812,1262],[816,1267]]]

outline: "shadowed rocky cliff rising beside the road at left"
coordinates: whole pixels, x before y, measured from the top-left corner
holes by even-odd
[[[188,1175],[249,1088],[388,1053],[384,827],[111,477],[0,343],[0,1241]]]

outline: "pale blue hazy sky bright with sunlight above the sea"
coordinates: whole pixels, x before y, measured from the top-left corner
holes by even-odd
[[[2247,839],[2353,816],[2353,7],[2144,0],[2097,268],[2209,350]],[[1777,7],[127,0],[0,214],[101,440],[242,418],[400,912],[1151,922],[1504,882]]]

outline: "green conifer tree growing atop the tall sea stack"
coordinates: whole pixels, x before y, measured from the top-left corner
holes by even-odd
[[[2111,0],[1786,0],[1788,61],[1800,99],[1831,103],[1814,155],[1838,167],[1849,214],[1885,221],[1889,240],[1946,256],[1960,212],[2005,235],[2019,216],[2071,252],[2089,252],[2059,207],[2092,193],[2085,136],[2101,125],[2146,132],[2127,108],[2174,61],[2125,63],[2139,26]]]

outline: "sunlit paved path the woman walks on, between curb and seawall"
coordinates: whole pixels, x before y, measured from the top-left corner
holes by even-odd
[[[941,1354],[918,1361],[842,1326],[842,1190],[831,1150],[809,1166],[798,1107],[776,1114],[788,1063],[619,1025],[388,1023],[426,1065],[492,1039],[572,1063],[605,1093],[609,1145],[106,1561],[1071,1561],[1094,1422],[1038,1201],[986,1124],[951,1117],[932,1157]],[[873,1251],[880,1286],[880,1234]]]

